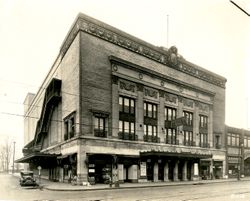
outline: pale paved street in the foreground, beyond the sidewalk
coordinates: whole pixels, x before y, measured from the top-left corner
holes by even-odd
[[[249,201],[250,181],[234,181],[201,185],[177,185],[150,188],[50,191],[20,187],[18,178],[0,175],[0,200],[34,201]]]

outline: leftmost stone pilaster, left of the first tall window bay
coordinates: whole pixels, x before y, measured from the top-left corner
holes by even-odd
[[[118,138],[119,132],[119,92],[118,77],[112,76],[112,115],[111,115],[112,133],[109,134]]]

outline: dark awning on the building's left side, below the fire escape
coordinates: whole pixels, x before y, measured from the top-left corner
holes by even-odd
[[[19,158],[15,160],[15,163],[29,163],[34,160],[54,160],[56,159],[56,154],[47,154],[47,153],[40,153],[40,152],[34,152],[27,156],[24,156],[22,158]]]

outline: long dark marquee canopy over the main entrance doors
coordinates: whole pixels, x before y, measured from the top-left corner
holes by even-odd
[[[165,157],[178,157],[178,158],[212,158],[209,153],[192,153],[192,152],[170,152],[170,151],[145,151],[140,152],[140,156],[165,156]]]

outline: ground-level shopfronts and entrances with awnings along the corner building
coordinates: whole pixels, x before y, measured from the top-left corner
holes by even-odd
[[[18,162],[29,163],[30,170],[37,175],[37,167],[40,166],[42,178],[71,182],[80,180],[81,175],[81,182],[91,184],[219,179],[223,178],[225,165],[222,160],[214,160],[211,154],[156,151],[140,152],[139,155],[86,153],[81,163],[77,155],[33,154]]]

